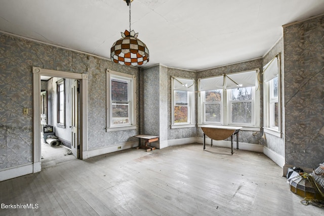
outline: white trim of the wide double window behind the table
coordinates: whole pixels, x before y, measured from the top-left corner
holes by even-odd
[[[253,70],[251,70],[253,71]],[[251,124],[243,124],[243,123],[229,123],[230,122],[230,102],[229,102],[229,96],[227,94],[227,91],[225,90],[225,86],[223,86],[223,90],[222,90],[222,99],[226,99],[226,100],[222,100],[222,116],[221,116],[221,123],[220,124],[215,124],[214,125],[235,125],[235,126],[241,126],[242,131],[261,131],[261,126],[260,126],[260,88],[259,88],[259,73],[260,70],[254,69],[254,71],[256,71],[256,84],[254,88],[254,94],[253,94],[253,104],[252,104],[252,109],[253,109],[253,116],[252,116],[252,123]],[[247,71],[241,71],[239,73],[244,73]],[[229,75],[229,74],[228,74]],[[202,78],[203,79],[203,78]],[[198,86],[199,86],[199,80],[198,80]],[[198,88],[199,89],[199,88]],[[201,94],[200,92],[198,92],[198,104],[197,104],[197,109],[198,109],[198,113],[200,113],[197,118],[198,118],[198,127],[201,127],[201,125],[206,125],[206,124],[213,124],[212,122],[204,122],[204,113],[203,113],[203,109],[204,109],[204,94]],[[226,110],[226,112],[224,112]]]

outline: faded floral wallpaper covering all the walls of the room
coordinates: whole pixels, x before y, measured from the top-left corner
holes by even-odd
[[[171,129],[171,76],[203,78],[260,68],[282,51],[285,125],[282,139],[242,131],[240,141],[263,144],[285,155],[287,165],[315,168],[324,162],[324,17],[284,26],[284,37],[264,57],[201,71],[156,65],[144,69],[0,33],[0,170],[33,161],[32,66],[88,74],[88,149],[100,149],[151,134],[160,141],[203,137],[201,128]],[[137,78],[137,129],[106,132],[106,69]],[[197,88],[197,87],[196,87]],[[260,124],[263,125],[260,85]],[[28,108],[28,114],[23,114]],[[285,142],[285,149],[282,148]],[[284,153],[285,152],[285,153]]]

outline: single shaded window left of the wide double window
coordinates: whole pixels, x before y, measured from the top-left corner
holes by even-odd
[[[172,77],[172,125],[171,128],[195,126],[194,79]]]

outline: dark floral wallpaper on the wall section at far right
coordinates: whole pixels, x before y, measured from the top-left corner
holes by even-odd
[[[287,165],[324,162],[323,35],[324,16],[284,26]]]

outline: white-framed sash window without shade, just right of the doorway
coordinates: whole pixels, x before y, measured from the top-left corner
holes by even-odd
[[[107,132],[136,129],[136,79],[107,70]]]

